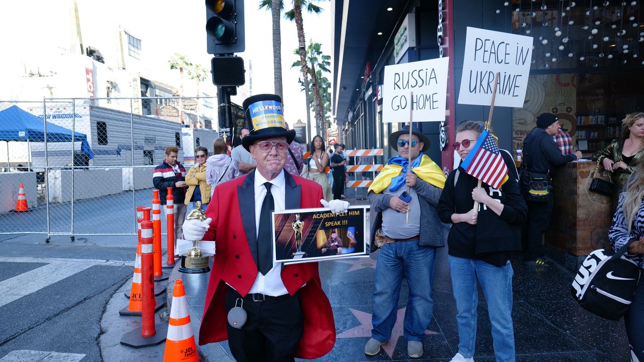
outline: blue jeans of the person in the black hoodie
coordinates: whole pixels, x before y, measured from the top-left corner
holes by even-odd
[[[478,282],[488,302],[497,362],[515,361],[515,332],[512,325],[512,265],[497,267],[482,260],[448,257],[451,287],[456,300],[459,353],[474,356],[477,340]]]

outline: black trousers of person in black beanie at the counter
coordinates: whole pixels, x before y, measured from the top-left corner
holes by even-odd
[[[526,240],[526,260],[535,260],[545,254],[543,236],[550,224],[553,215],[554,200],[552,197],[545,202],[526,201],[527,222],[524,226],[524,240]]]

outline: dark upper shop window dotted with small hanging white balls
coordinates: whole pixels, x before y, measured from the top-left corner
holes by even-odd
[[[513,0],[512,31],[535,39],[531,69],[644,64],[641,1]]]

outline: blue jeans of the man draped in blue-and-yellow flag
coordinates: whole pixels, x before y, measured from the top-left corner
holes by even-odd
[[[422,342],[434,306],[431,285],[435,255],[435,248],[421,248],[418,240],[392,242],[380,249],[374,280],[374,329],[371,330],[374,339],[384,343],[392,336],[404,271],[409,286],[404,337],[407,341]]]

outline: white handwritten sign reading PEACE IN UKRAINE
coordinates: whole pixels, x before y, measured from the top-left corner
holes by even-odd
[[[532,60],[532,37],[468,26],[459,104],[490,105],[498,72],[495,107],[522,108]]]

